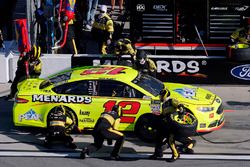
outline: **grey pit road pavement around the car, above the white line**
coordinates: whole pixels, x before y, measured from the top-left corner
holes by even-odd
[[[51,155],[49,156],[79,156],[78,149],[76,152],[68,150],[66,154],[60,153],[65,152],[65,148],[56,145],[50,150],[43,147],[44,136],[42,133],[36,129],[19,129],[15,128],[12,124],[11,112],[13,102],[8,102],[4,100],[4,96],[8,95],[10,92],[10,83],[0,84],[0,113],[4,113],[1,120],[0,128],[0,154],[2,151],[9,151],[11,155],[22,154],[25,155],[27,151],[33,151],[34,156],[43,156],[44,151],[49,151]],[[245,157],[250,160],[250,86],[249,85],[196,85],[208,89],[223,100],[225,106],[225,118],[226,123],[222,129],[204,135],[204,137],[212,142],[205,141],[199,136],[194,137],[197,140],[197,145],[195,147],[194,155],[183,155],[185,156],[195,156],[199,154],[212,154],[214,158],[217,157],[237,154],[241,158]],[[3,118],[4,117],[4,118]],[[89,143],[93,142],[91,135],[76,134],[72,135],[78,148],[83,148]],[[244,141],[244,142],[240,142]],[[6,143],[5,143],[6,142]],[[217,142],[217,143],[216,143]],[[235,142],[235,143],[234,143]],[[1,144],[2,143],[2,144]],[[112,149],[111,146],[107,146],[98,151],[94,156],[102,156],[107,154]],[[122,149],[122,154],[127,156],[134,156],[134,154],[148,155],[152,154],[154,148],[152,144],[143,143],[134,136],[126,137],[124,147]],[[12,152],[14,151],[14,152]],[[17,152],[18,151],[18,152]],[[24,152],[25,153],[24,153]],[[59,154],[54,155],[54,152]],[[66,150],[67,151],[67,150]],[[170,156],[170,150],[165,151],[167,156]],[[0,155],[1,156],[1,155]],[[6,155],[5,155],[6,156]],[[47,155],[48,156],[48,155]],[[237,158],[237,156],[233,156]],[[197,158],[197,157],[196,157]],[[230,157],[231,159],[232,157]]]

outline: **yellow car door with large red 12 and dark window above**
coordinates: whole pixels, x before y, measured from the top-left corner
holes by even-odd
[[[130,85],[114,80],[99,80],[97,85],[96,103],[103,106],[102,112],[111,110],[115,104],[121,107],[120,130],[133,130],[137,119],[151,111],[151,99]]]

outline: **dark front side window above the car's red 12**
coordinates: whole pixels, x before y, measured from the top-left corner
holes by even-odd
[[[143,94],[129,85],[118,81],[99,81],[99,96],[142,98]]]

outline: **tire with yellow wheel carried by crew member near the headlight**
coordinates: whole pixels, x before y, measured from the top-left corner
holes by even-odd
[[[186,119],[186,121],[185,121]],[[173,112],[168,117],[169,125],[171,126],[172,131],[176,135],[180,136],[195,136],[198,120],[190,112],[183,111],[183,114],[178,112]]]

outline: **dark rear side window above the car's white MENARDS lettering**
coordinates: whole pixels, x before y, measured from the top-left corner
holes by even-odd
[[[76,81],[65,83],[53,88],[59,94],[96,95],[96,81]]]

